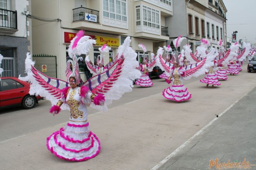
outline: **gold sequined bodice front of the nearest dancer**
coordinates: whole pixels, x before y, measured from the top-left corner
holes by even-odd
[[[83,112],[78,110],[80,102],[74,99],[75,94],[76,91],[72,90],[69,94],[69,100],[67,101],[67,104],[70,107],[70,118],[83,118]]]

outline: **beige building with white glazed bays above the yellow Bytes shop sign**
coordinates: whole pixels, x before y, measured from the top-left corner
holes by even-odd
[[[172,0],[33,0],[32,15],[60,19],[59,22],[32,20],[33,54],[57,56],[57,77],[65,80],[65,67],[70,40],[78,30],[96,39],[89,58],[96,63],[98,48],[107,43],[104,64],[113,60],[126,36],[130,46],[142,56],[142,43],[147,53],[156,53],[169,40],[165,17],[173,15]],[[149,55],[149,59],[151,56]],[[81,77],[85,80],[81,63]]]

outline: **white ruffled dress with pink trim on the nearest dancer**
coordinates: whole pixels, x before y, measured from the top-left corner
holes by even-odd
[[[70,107],[69,123],[47,137],[46,143],[47,148],[58,158],[76,162],[97,156],[101,149],[100,141],[90,131],[87,122],[91,93],[88,92],[81,102],[79,90],[80,87],[70,88],[66,97],[65,103]]]

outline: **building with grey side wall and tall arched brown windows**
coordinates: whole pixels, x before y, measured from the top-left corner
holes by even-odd
[[[217,42],[222,39],[226,48],[226,8],[222,0],[173,0],[173,16],[166,17],[171,41],[182,35],[190,44],[193,52],[200,46],[200,39],[208,39],[212,47],[217,48]]]

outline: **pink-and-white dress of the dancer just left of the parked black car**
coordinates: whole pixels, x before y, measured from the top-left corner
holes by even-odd
[[[153,82],[148,76],[148,67],[149,64],[140,64],[140,71],[142,72],[142,75],[140,76],[140,79],[135,81],[135,84],[141,87],[152,87]]]

